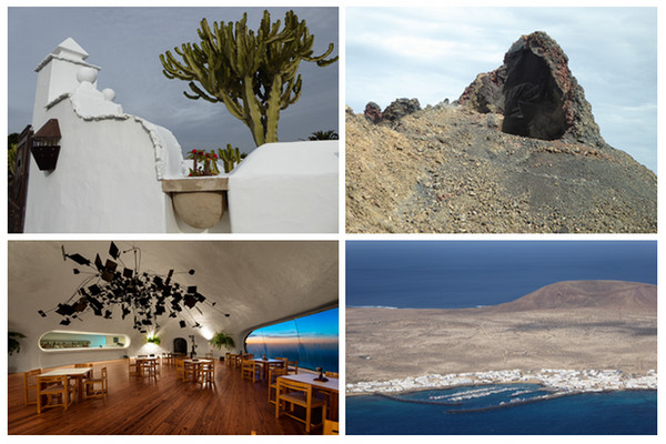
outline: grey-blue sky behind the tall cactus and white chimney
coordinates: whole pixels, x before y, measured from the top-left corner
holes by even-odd
[[[284,22],[290,8],[269,8],[273,21]],[[337,8],[293,8],[314,36],[314,54],[334,43],[340,52]],[[174,133],[184,151],[214,149],[232,143],[254,149],[250,130],[223,104],[190,100],[186,82],[162,74],[159,56],[184,42],[200,41],[199,23],[238,21],[248,11],[248,26],[256,29],[264,8],[9,8],[8,10],[8,133],[30,123],[37,73],[34,68],[68,37],[101,67],[98,88],[115,91],[115,102]],[[58,26],[56,26],[58,23]],[[28,34],[27,34],[28,32]],[[317,68],[302,62],[301,99],[280,114],[281,141],[307,139],[314,131],[339,132],[340,63]]]

